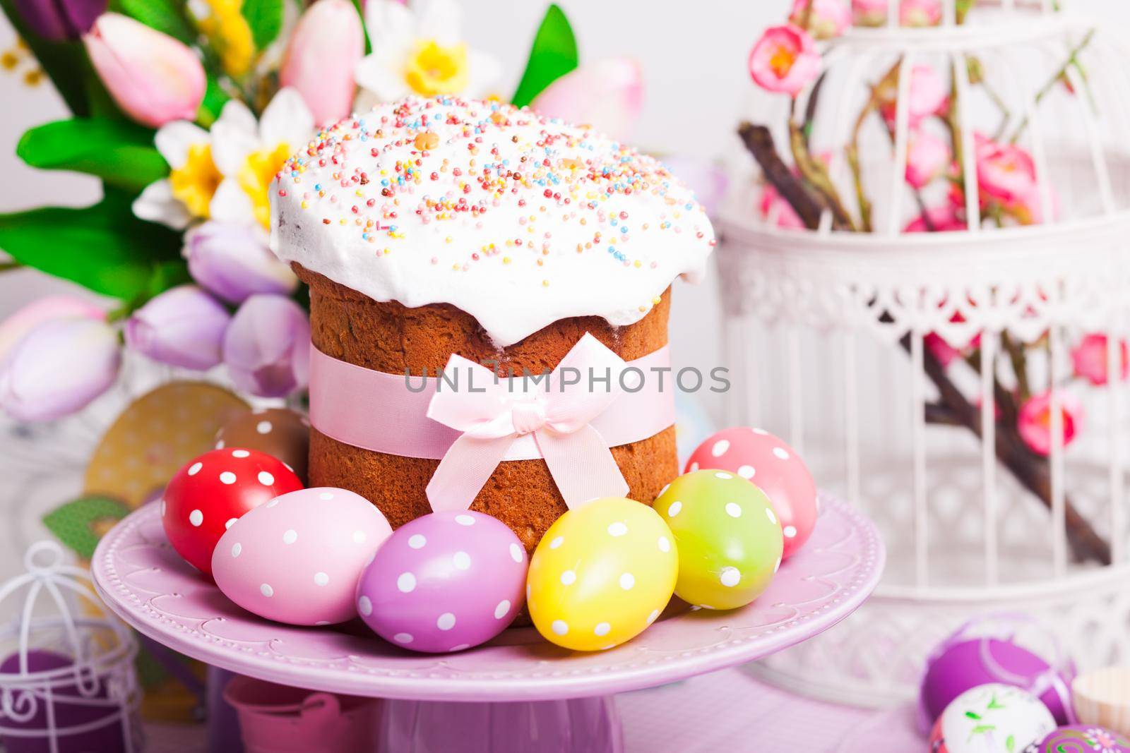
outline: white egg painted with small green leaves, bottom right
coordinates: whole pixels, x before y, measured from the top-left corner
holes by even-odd
[[[1024,751],[1055,728],[1038,698],[1014,685],[972,688],[946,707],[930,734],[932,753]]]

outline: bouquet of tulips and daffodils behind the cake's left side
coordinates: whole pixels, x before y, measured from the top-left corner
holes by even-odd
[[[102,181],[79,208],[0,214],[5,269],[105,296],[52,297],[0,325],[0,408],[73,413],[115,380],[122,345],[252,395],[306,384],[306,291],[268,246],[268,186],[319,126],[408,95],[501,98],[503,72],[460,36],[451,0],[0,0],[71,116],[16,147]],[[38,75],[38,73],[36,73]],[[641,105],[628,60],[579,67],[550,6],[510,100],[623,133]]]

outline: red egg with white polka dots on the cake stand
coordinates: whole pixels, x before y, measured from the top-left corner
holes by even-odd
[[[224,532],[247,510],[302,489],[282,461],[254,449],[225,447],[184,465],[165,487],[160,519],[173,549],[211,575],[211,555]]]

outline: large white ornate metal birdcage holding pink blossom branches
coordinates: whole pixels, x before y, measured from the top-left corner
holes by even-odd
[[[885,580],[858,615],[757,668],[832,700],[913,697],[930,649],[985,612],[1037,616],[1081,668],[1130,663],[1120,344],[1130,330],[1130,55],[1116,32],[1063,0],[980,0],[964,23],[956,5],[942,2],[937,26],[906,28],[890,0],[888,25],[826,43],[822,79],[791,108],[762,96],[749,113],[779,154],[792,116],[809,152],[827,155],[849,218],[861,218],[849,148],[872,87],[893,81],[886,117],[859,121],[871,231],[849,231],[827,202],[815,227],[781,227],[757,169],[719,222],[738,376],[727,423],[786,437],[888,545]],[[949,87],[948,125],[918,128],[956,133],[962,169],[915,193],[906,163],[918,65]],[[1016,134],[1042,222],[993,214],[991,203],[982,214],[979,133],[999,143]],[[953,195],[964,229],[909,231],[923,207]],[[1099,343],[1105,385],[1076,374],[1086,335]],[[1018,429],[1022,399],[1038,393],[1048,404],[1028,428],[1046,431],[1046,455]]]

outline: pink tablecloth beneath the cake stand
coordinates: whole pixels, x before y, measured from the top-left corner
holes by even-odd
[[[810,701],[739,669],[617,697],[627,753],[919,753],[909,709]],[[206,753],[203,726],[150,726],[149,751]]]

